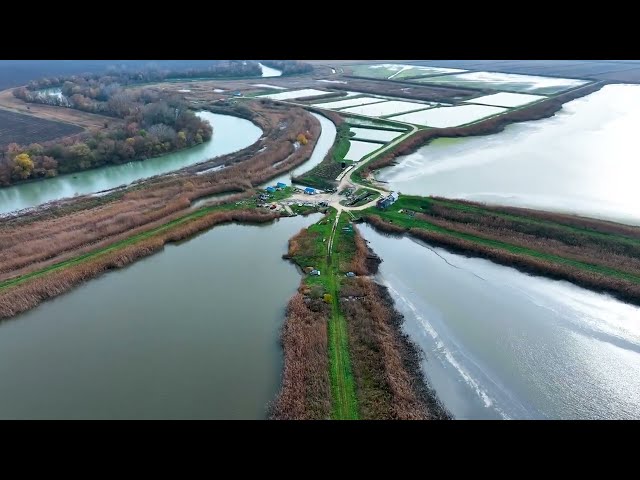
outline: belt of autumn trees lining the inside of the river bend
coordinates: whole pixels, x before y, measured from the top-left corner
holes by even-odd
[[[149,89],[126,90],[111,80],[104,77],[67,80],[62,98],[68,100],[65,106],[121,118],[122,125],[106,121],[102,129],[43,144],[11,143],[0,150],[0,185],[144,160],[211,138],[211,125],[190,111],[178,95]],[[33,92],[24,87],[17,90],[14,94],[26,101],[54,104],[60,101],[55,96],[30,96]]]

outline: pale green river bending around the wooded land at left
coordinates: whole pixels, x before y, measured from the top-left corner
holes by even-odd
[[[242,118],[211,112],[198,112],[198,116],[213,125],[213,137],[202,145],[142,162],[102,167],[0,188],[0,214],[34,207],[51,200],[99,192],[178,170],[241,150],[262,135],[260,128]]]

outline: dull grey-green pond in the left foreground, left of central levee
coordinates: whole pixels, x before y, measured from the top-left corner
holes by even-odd
[[[259,419],[314,221],[216,227],[0,324],[0,418]]]

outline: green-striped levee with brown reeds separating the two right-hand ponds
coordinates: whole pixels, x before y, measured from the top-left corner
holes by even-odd
[[[363,213],[370,223],[386,231],[408,233],[468,255],[640,303],[637,238],[603,231],[612,228],[611,222],[584,219],[589,227],[580,227],[563,222],[570,218],[565,215],[558,215],[558,221],[542,220],[536,216],[541,212],[521,209],[515,214],[517,209],[504,213],[496,208],[500,207],[401,196],[387,210],[370,208]]]

